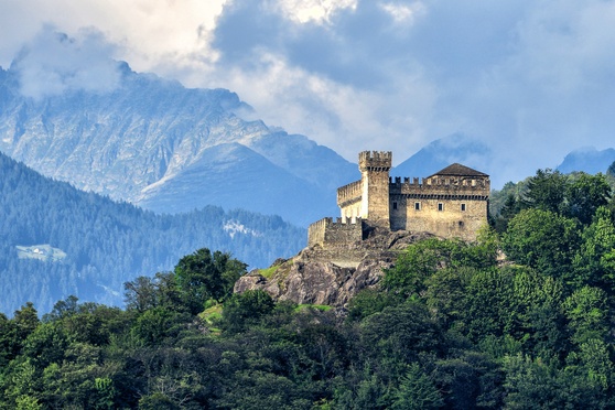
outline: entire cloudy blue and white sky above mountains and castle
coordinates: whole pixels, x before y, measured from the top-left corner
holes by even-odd
[[[462,133],[505,182],[615,147],[609,0],[0,0],[25,95],[112,89],[111,58],[230,89],[353,162]]]

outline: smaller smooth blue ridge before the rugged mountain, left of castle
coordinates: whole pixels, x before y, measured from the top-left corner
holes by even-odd
[[[258,179],[255,180],[255,175]],[[284,215],[289,220],[308,225],[322,217],[319,214],[322,207],[305,207],[314,198],[322,198],[322,191],[249,148],[233,142],[205,150],[198,161],[174,179],[150,185],[139,204],[158,212],[185,212],[203,203],[226,209],[247,208],[249,204],[250,211]],[[335,204],[335,191],[326,194],[328,203]],[[293,212],[298,215],[289,217]]]

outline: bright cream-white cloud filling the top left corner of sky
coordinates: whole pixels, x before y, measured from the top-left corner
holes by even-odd
[[[44,24],[69,36],[94,26],[119,45],[116,56],[138,71],[159,65],[206,67],[215,62],[209,47],[225,0],[0,0],[0,64],[8,66],[24,40]]]

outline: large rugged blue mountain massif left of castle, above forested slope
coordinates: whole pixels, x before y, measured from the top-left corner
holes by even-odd
[[[41,99],[21,96],[19,64],[0,69],[0,150],[44,175],[158,212],[218,204],[302,225],[336,213],[332,188],[357,177],[356,165],[328,148],[244,119],[251,108],[234,93],[188,89],[126,63],[118,69],[112,91]]]

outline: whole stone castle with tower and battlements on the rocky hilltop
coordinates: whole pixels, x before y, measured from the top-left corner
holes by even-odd
[[[402,182],[389,176],[391,159],[391,152],[359,153],[360,180],[337,188],[342,216],[310,225],[309,246],[349,245],[374,228],[476,239],[487,223],[489,175],[454,163],[422,181]]]

